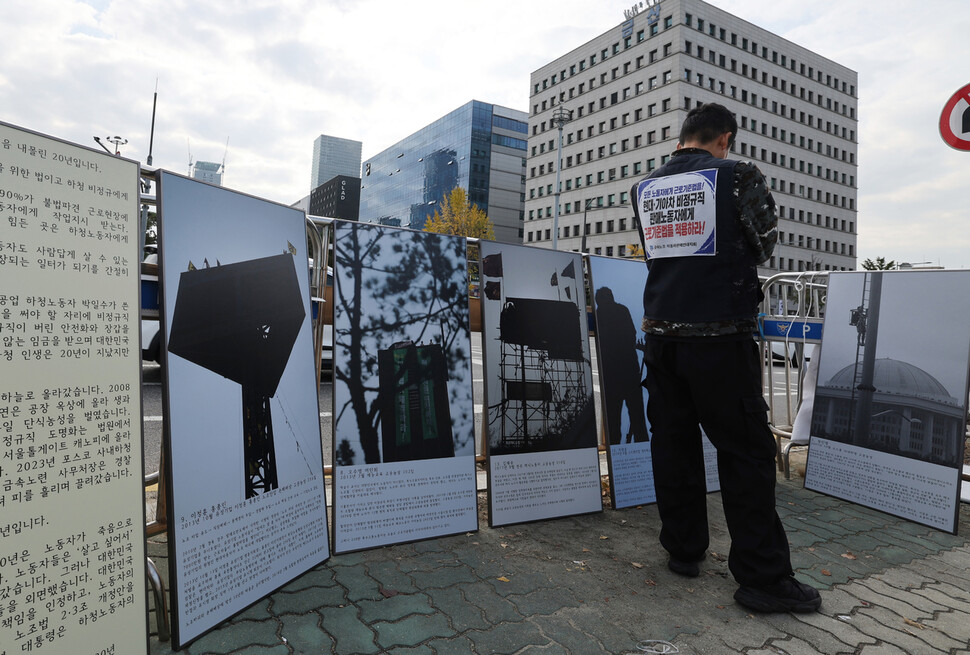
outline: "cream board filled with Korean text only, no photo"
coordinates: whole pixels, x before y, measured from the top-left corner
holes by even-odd
[[[147,653],[138,164],[0,123],[0,654]]]

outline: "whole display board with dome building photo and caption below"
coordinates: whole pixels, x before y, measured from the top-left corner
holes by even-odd
[[[805,486],[956,532],[970,271],[833,273]]]

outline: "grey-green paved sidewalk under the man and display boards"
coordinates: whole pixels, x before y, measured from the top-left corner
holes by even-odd
[[[477,533],[334,556],[182,652],[585,655],[661,639],[705,655],[970,653],[970,529],[941,533],[801,485],[779,479],[778,506],[797,574],[822,591],[819,614],[734,602],[712,494],[697,579],[666,569],[653,506],[498,529],[483,519]],[[164,537],[149,543],[163,576],[165,551]],[[151,646],[172,652],[154,632]]]

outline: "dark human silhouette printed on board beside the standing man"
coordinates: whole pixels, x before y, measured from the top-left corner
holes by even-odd
[[[638,351],[641,344],[637,341],[633,316],[626,305],[616,301],[609,287],[597,288],[594,299],[607,437],[610,444],[649,441],[646,391],[640,385],[643,355]]]

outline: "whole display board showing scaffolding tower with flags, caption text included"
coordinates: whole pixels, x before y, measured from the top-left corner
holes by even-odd
[[[479,249],[489,524],[602,511],[582,260]]]

